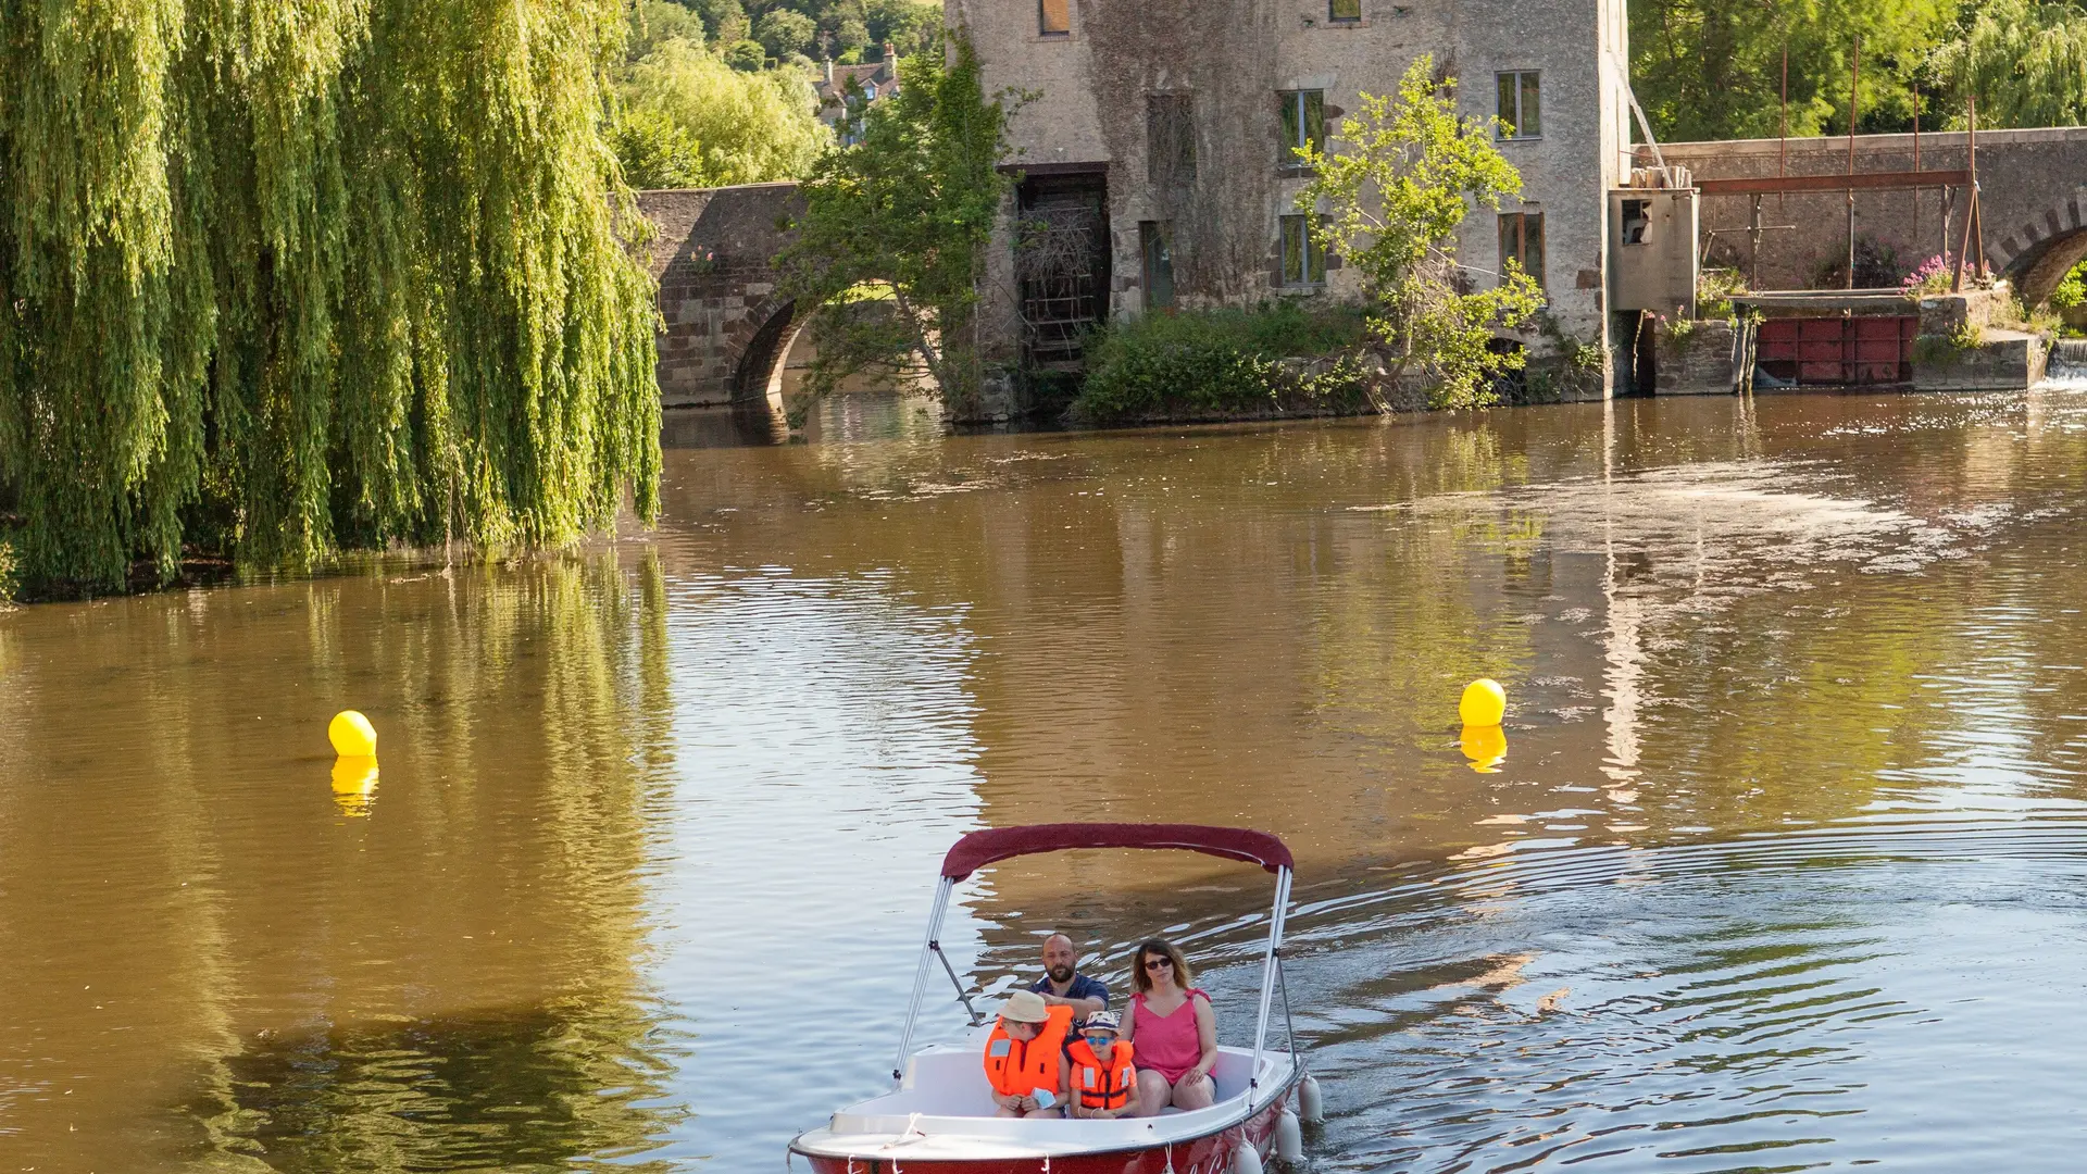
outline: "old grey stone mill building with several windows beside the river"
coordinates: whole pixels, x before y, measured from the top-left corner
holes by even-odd
[[[1607,341],[1607,190],[1628,175],[1624,0],[945,0],[1010,123],[1023,184],[993,249],[987,353],[1031,370],[1081,328],[1165,305],[1354,297],[1294,207],[1290,146],[1338,134],[1359,94],[1392,94],[1432,52],[1469,115],[1513,123],[1521,203],[1473,213],[1471,282],[1519,255],[1557,330]],[[1555,338],[1530,330],[1532,353]]]

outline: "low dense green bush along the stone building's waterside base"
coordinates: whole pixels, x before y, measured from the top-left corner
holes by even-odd
[[[1346,305],[1148,313],[1087,345],[1073,416],[1108,424],[1361,409],[1369,395],[1352,351],[1365,343],[1363,309]],[[1284,361],[1323,355],[1334,361]]]

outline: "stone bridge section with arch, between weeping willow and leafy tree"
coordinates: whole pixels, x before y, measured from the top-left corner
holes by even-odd
[[[772,259],[801,207],[797,184],[639,192],[655,230],[666,407],[755,403],[778,384],[795,313]]]

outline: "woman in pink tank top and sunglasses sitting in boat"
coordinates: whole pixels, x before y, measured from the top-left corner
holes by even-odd
[[[1137,994],[1123,1011],[1123,1036],[1137,1042],[1137,1116],[1173,1105],[1202,1109],[1217,1103],[1217,1013],[1210,996],[1190,986],[1188,959],[1173,944],[1152,938],[1137,946],[1131,986]]]

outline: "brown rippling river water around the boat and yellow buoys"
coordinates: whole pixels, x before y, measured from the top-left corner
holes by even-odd
[[[1294,846],[1315,1170],[2079,1168],[2087,391],[814,432],[676,420],[570,558],[0,616],[0,1172],[778,1170],[1050,819]],[[1240,1042],[1267,879],[943,942],[1165,932]]]

